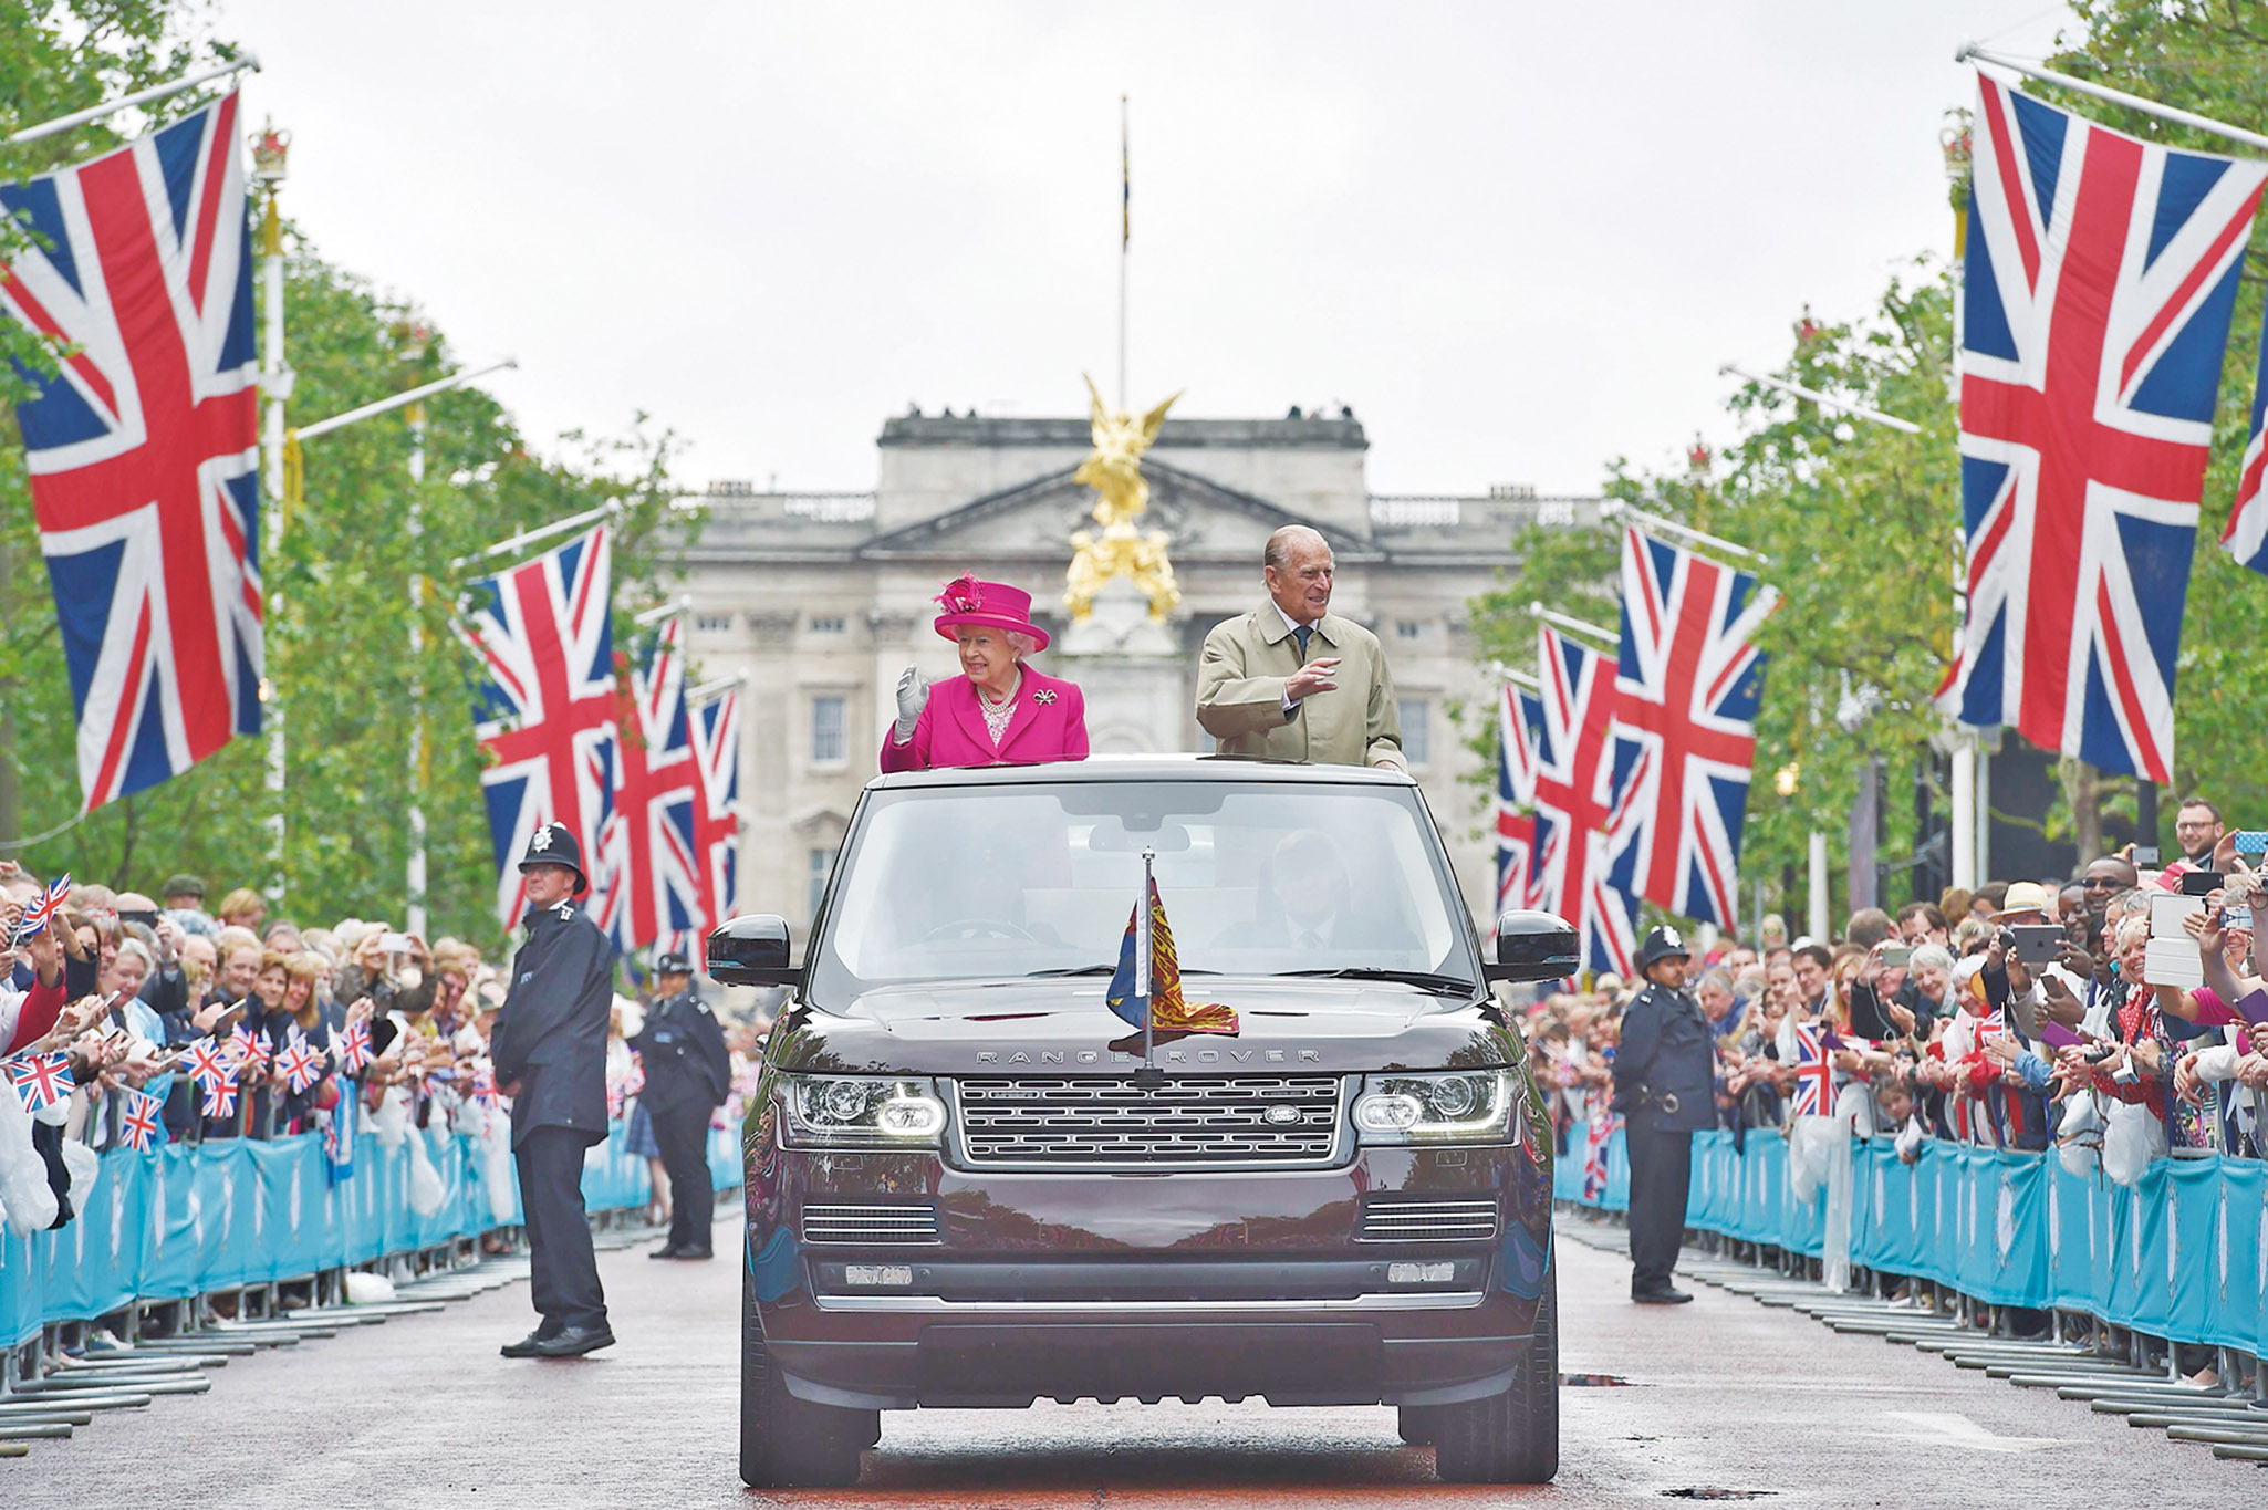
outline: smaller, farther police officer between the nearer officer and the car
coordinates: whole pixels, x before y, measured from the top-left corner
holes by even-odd
[[[640,1097],[669,1174],[669,1242],[649,1258],[710,1258],[717,1190],[708,1172],[708,1120],[733,1088],[723,1027],[694,991],[692,961],[669,950],[653,961],[653,1007],[631,1047],[646,1066]]]

